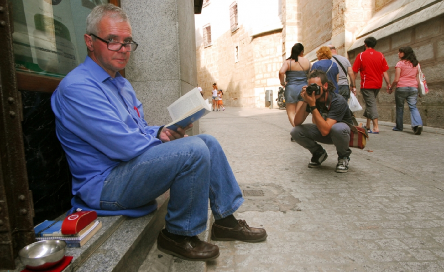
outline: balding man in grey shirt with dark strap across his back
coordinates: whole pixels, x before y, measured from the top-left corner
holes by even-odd
[[[337,82],[339,94],[348,101],[350,98],[350,91],[356,95],[356,86],[354,85],[355,74],[353,73],[352,65],[346,57],[337,54],[336,47],[334,45],[330,44],[327,47],[330,49],[330,51],[332,51],[331,60],[336,63],[339,68],[339,80]],[[350,84],[347,75],[350,77]]]

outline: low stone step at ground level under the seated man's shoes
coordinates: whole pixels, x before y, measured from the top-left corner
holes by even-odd
[[[208,218],[206,230],[198,234],[202,241],[210,241],[210,227],[214,220],[211,210],[208,209]],[[155,244],[147,258],[140,266],[138,272],[205,272],[206,262],[186,261],[170,254],[166,254],[157,249]]]

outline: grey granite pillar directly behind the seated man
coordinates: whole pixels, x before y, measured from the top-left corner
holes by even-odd
[[[197,86],[194,0],[121,0],[134,40],[126,77],[150,125],[170,123],[171,103]],[[193,133],[198,134],[198,122]]]

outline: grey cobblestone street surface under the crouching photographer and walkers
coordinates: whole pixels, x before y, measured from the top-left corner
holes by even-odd
[[[227,108],[201,119],[244,192],[236,217],[268,232],[260,243],[216,242],[221,254],[207,271],[444,271],[443,130],[418,136],[381,124],[341,174],[334,146],[324,145],[321,168],[307,167],[311,155],[290,142],[284,110]]]

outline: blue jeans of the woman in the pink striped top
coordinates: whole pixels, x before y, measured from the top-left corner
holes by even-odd
[[[402,117],[404,115],[404,101],[407,100],[408,108],[410,109],[410,119],[412,119],[412,127],[422,126],[421,115],[416,107],[418,100],[418,88],[415,87],[400,87],[395,91],[396,100],[396,126],[395,130],[402,130]]]

